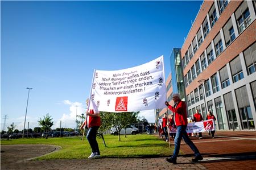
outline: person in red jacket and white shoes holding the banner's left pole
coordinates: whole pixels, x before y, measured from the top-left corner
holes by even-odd
[[[86,111],[86,119],[84,123],[82,123],[80,129],[84,128],[84,126],[88,127],[88,132],[86,135],[86,138],[90,144],[90,147],[92,148],[92,154],[88,157],[89,159],[93,159],[96,157],[100,157],[100,149],[98,148],[98,143],[96,140],[96,135],[98,128],[101,126],[101,118],[100,113],[96,112],[94,113],[93,110]]]

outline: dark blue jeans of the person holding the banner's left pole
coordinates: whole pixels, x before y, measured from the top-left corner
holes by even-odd
[[[100,150],[98,148],[98,143],[96,140],[98,128],[98,126],[90,127],[87,132],[86,138],[90,144],[90,147],[92,148],[92,152],[98,152],[98,155],[100,155]]]

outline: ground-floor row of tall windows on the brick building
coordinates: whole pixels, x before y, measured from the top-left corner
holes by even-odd
[[[254,107],[256,109],[256,81],[250,83],[251,92],[253,94],[253,101],[254,101]],[[224,105],[225,105],[225,111],[223,109],[222,99],[221,97],[214,98],[214,105],[216,113],[214,113],[213,109],[213,100],[207,101],[207,109],[212,111],[214,115],[216,115],[218,127],[220,129],[225,129],[226,123],[224,122],[224,114],[226,114],[226,117],[228,118],[228,128],[229,129],[238,129],[238,117],[240,117],[241,120],[241,126],[242,129],[247,128],[255,128],[255,123],[253,121],[253,113],[251,111],[251,106],[249,102],[249,95],[247,93],[246,86],[242,86],[241,88],[235,89],[234,94],[236,96],[237,100],[237,109],[239,113],[236,113],[235,105],[234,105],[234,99],[232,92],[226,93],[223,95],[224,99]],[[199,110],[200,113],[202,113],[203,118],[205,119],[207,117],[207,113],[205,111],[205,105],[202,104],[201,106],[198,105],[196,107],[193,107],[192,109],[188,110],[189,117],[193,117],[193,114],[196,113],[196,109]]]

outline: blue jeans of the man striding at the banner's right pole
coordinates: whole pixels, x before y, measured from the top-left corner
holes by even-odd
[[[183,138],[185,143],[187,143],[191,150],[194,151],[195,156],[201,155],[195,144],[189,139],[186,128],[187,125],[177,126],[177,132],[174,139],[174,154],[172,155],[174,159],[176,159],[179,154],[181,138]]]

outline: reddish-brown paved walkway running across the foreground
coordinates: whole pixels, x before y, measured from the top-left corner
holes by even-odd
[[[59,147],[16,145],[1,146],[1,169],[256,169],[256,131],[217,131],[214,139],[203,135],[200,140],[191,137],[204,156],[200,163],[191,163],[193,152],[185,143],[181,143],[185,155],[177,158],[177,165],[168,163],[165,157],[31,161]]]

